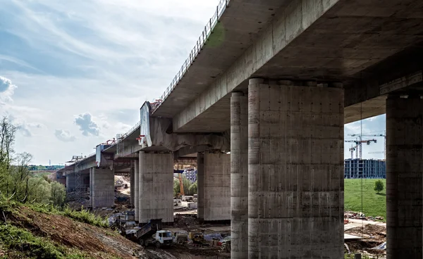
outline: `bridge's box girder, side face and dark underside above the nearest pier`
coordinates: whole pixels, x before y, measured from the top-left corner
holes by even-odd
[[[323,8],[321,5],[324,4],[302,6],[300,10],[305,12],[306,8]],[[175,109],[172,114],[167,114],[174,119],[174,132],[228,130],[230,93],[233,90],[245,91],[249,77],[343,82],[345,123],[369,118],[385,113],[384,94],[387,92],[381,91],[383,84],[422,67],[414,62],[417,60],[416,56],[423,56],[419,48],[423,41],[423,29],[419,26],[423,22],[421,2],[397,0],[388,1],[381,6],[380,1],[376,0],[337,1],[321,17],[314,18],[315,22],[309,27],[305,27],[309,23],[305,19],[312,18],[301,13],[290,13],[291,20],[278,20],[285,19],[286,13],[290,11],[298,11],[298,8],[291,6],[293,3],[288,7],[281,7],[274,20],[259,35],[259,39],[263,39],[261,44],[250,46],[238,58],[238,64],[233,65],[240,67],[240,59],[244,58],[243,69],[247,72],[229,69],[232,73],[226,75],[226,87],[216,87],[221,84],[218,81],[223,80],[217,78],[209,89],[204,90],[202,87],[208,94],[197,94],[190,98],[185,96],[188,98],[186,101],[195,105],[180,110],[179,113]],[[300,30],[303,32],[298,37],[292,37]],[[286,46],[276,52],[277,44]],[[258,59],[263,56],[269,57],[269,60],[264,65],[257,65]],[[217,59],[219,56],[213,58]],[[398,60],[405,61],[400,68],[394,62]],[[195,82],[189,76],[184,77],[181,82],[185,82],[188,88],[198,89],[197,84],[189,84]],[[230,82],[239,84],[230,85]],[[168,99],[182,96],[183,94],[175,91]],[[166,101],[167,99],[161,106],[166,107]],[[359,108],[362,113],[357,113]],[[160,109],[154,115],[161,115]]]

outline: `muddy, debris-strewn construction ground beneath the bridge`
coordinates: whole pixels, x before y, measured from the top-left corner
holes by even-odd
[[[115,191],[115,205],[112,208],[97,208],[94,214],[109,217],[115,213],[132,210],[130,205],[130,183],[128,177],[118,177],[118,180],[128,184],[126,189],[117,189]],[[386,258],[386,251],[373,249],[386,241],[386,223],[375,220],[374,217],[363,217],[360,219],[359,213],[345,212],[348,218],[348,224],[344,225],[345,244],[350,253],[362,253],[368,258]],[[231,234],[231,225],[228,224],[211,224],[201,223],[197,220],[197,209],[189,209],[188,202],[182,201],[180,205],[174,206],[174,222],[173,226],[164,227],[172,232],[204,232],[207,236],[225,237]],[[122,237],[123,238],[123,237]],[[142,249],[137,244],[130,242],[137,249]],[[195,246],[192,244],[174,244],[170,248],[158,249],[149,246],[143,251],[147,258],[230,258],[230,253],[222,252],[221,246]],[[345,252],[347,248],[345,248]]]

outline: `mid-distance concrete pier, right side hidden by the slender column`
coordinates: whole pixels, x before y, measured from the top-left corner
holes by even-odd
[[[231,220],[231,155],[198,153],[197,188],[199,220]]]

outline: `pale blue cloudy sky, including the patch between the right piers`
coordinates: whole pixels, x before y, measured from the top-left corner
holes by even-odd
[[[57,165],[125,133],[163,94],[219,0],[0,0],[0,115],[16,153]],[[345,125],[383,133],[384,115]],[[375,134],[376,134],[375,133]],[[345,139],[353,137],[345,136]],[[364,158],[383,158],[383,138]],[[345,158],[350,157],[345,144]]]

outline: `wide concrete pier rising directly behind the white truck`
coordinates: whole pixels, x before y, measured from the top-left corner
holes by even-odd
[[[139,221],[173,222],[173,154],[140,151]]]

